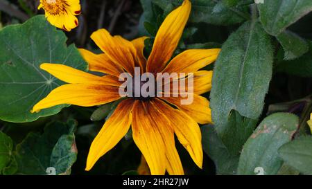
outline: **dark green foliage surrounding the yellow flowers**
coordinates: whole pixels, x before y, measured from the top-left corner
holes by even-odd
[[[191,48],[222,50],[205,67],[214,71],[211,93],[204,95],[214,123],[200,125],[203,169],[177,144],[187,174],[312,174],[306,124],[312,112],[312,1],[255,2],[191,0],[175,55]],[[137,174],[141,154],[131,130],[94,170],[84,171],[89,146],[118,102],[30,113],[63,84],[40,64],[87,71],[76,45],[96,52],[89,35],[98,28],[127,39],[148,36],[148,57],[159,26],[182,0],[81,1],[83,16],[71,33],[37,15],[35,1],[6,3],[17,12],[0,8],[0,174],[51,174],[48,168],[55,174]]]

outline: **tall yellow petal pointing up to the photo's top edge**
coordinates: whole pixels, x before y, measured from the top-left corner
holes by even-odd
[[[158,73],[166,66],[171,59],[177,44],[180,41],[189,14],[191,12],[191,2],[184,0],[182,6],[173,10],[160,26],[153,50],[148,57],[146,70],[150,73]]]

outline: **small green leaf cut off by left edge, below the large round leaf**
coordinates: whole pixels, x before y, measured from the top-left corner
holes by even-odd
[[[0,174],[12,159],[13,141],[10,136],[0,132]]]

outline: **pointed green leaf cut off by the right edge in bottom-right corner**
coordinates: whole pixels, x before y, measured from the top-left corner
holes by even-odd
[[[302,136],[295,141],[282,145],[279,156],[288,165],[303,174],[312,175],[312,137]]]

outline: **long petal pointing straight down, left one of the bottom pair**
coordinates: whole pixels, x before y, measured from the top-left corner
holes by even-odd
[[[150,173],[163,175],[166,171],[165,145],[156,120],[152,120],[147,111],[148,105],[148,101],[135,101],[132,110],[132,136],[148,163]]]

